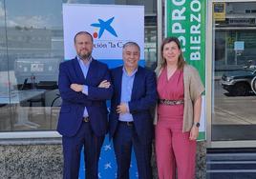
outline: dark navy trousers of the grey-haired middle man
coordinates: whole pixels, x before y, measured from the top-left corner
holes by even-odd
[[[129,179],[132,147],[135,150],[139,179],[152,179],[152,144],[139,141],[134,125],[119,123],[113,142],[117,158],[117,179]]]

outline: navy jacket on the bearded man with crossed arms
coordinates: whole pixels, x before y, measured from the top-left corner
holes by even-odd
[[[74,136],[80,128],[83,111],[86,107],[90,124],[97,136],[105,135],[108,130],[108,110],[106,99],[111,99],[113,87],[97,88],[103,80],[110,81],[110,71],[106,64],[92,60],[86,78],[77,59],[59,65],[58,88],[62,98],[57,131],[64,136]],[[70,89],[71,84],[88,86],[88,95]]]

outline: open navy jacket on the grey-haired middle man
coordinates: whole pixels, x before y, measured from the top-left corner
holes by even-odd
[[[111,70],[111,81],[114,85],[114,95],[111,99],[109,116],[110,137],[115,135],[119,114],[116,109],[120,104],[122,69],[118,67]],[[142,143],[152,141],[154,134],[153,117],[150,109],[154,109],[157,101],[156,74],[151,70],[139,67],[135,74],[131,101],[128,103],[130,113],[133,115],[135,128]]]

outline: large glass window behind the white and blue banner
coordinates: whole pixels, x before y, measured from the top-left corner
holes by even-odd
[[[63,3],[144,6],[146,67],[156,67],[156,1],[0,0],[0,131],[56,129]]]

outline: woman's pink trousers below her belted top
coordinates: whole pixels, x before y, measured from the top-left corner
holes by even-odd
[[[155,132],[159,179],[194,179],[196,141],[182,132],[182,119],[159,120]]]

